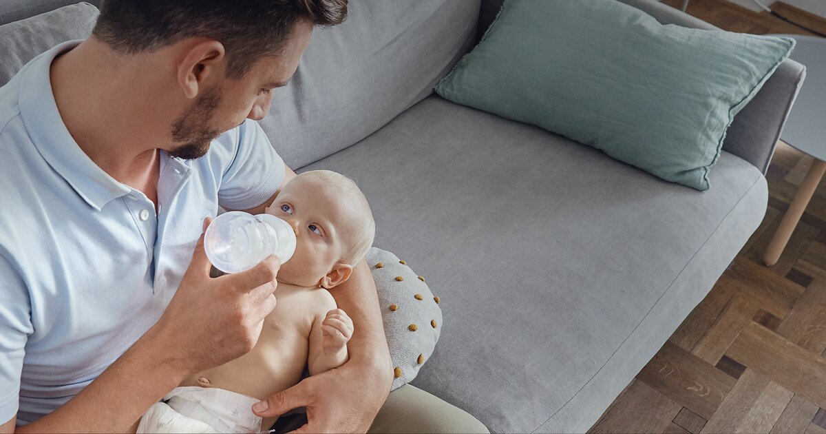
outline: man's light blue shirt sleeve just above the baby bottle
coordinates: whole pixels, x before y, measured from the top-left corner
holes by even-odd
[[[238,126],[235,156],[221,175],[218,204],[230,209],[258,207],[278,191],[284,161],[273,149],[258,122]]]

